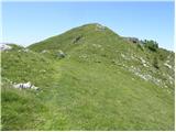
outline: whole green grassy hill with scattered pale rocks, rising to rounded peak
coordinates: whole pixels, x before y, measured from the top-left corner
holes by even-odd
[[[2,51],[2,130],[174,130],[174,53],[147,44],[92,23]]]

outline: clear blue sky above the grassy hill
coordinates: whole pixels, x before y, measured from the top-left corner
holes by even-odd
[[[100,23],[123,36],[174,50],[174,2],[2,2],[2,41],[30,45],[72,28]]]

